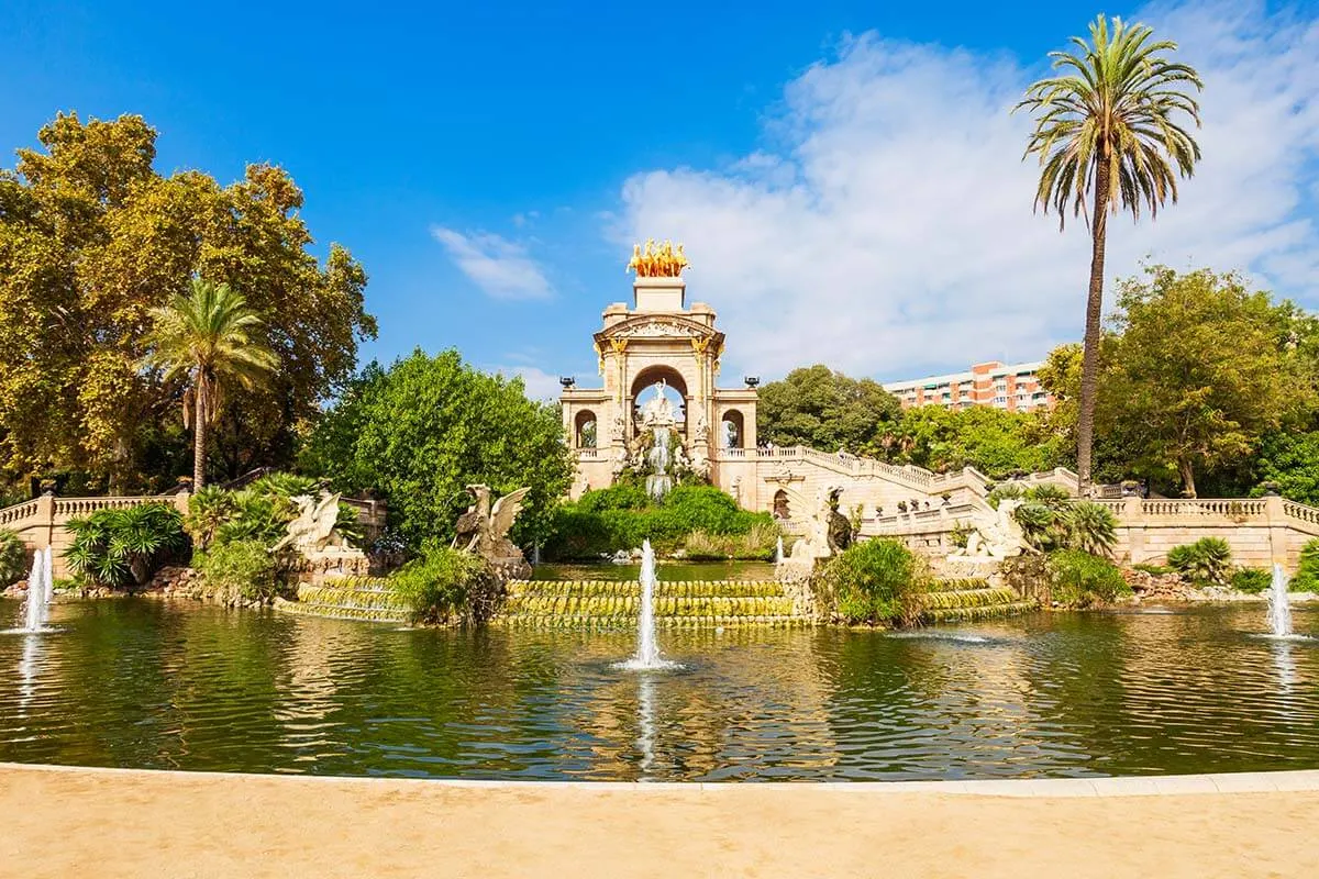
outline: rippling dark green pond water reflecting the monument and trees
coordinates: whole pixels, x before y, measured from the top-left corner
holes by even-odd
[[[21,608],[0,601],[0,625]],[[1262,605],[884,634],[400,630],[154,600],[0,635],[0,760],[584,780],[897,780],[1319,766],[1319,640]],[[1298,633],[1319,613],[1297,609]]]

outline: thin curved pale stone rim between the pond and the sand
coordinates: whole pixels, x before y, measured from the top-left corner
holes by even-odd
[[[483,779],[408,779],[364,778],[352,775],[284,775],[276,772],[203,772],[185,770],[135,770],[107,766],[63,766],[50,763],[0,763],[0,776],[7,772],[55,772],[67,775],[121,775],[149,778],[183,778],[190,780],[262,779],[303,784],[417,784],[454,788],[512,789],[576,789],[648,792],[700,791],[718,793],[753,787],[766,791],[827,789],[851,793],[930,793],[1006,796],[1039,799],[1183,796],[1194,793],[1290,793],[1319,791],[1319,770],[1283,770],[1277,772],[1211,772],[1203,775],[1124,775],[1088,779],[980,779],[939,781],[516,781]]]

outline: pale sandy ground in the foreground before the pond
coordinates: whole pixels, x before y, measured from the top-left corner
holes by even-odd
[[[1319,791],[1016,799],[0,767],[0,876],[1319,876]]]

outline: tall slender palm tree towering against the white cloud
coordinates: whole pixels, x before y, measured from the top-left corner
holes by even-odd
[[[1058,227],[1072,215],[1086,215],[1092,237],[1089,294],[1086,299],[1086,343],[1082,354],[1080,411],[1076,424],[1079,489],[1089,488],[1095,395],[1099,383],[1100,315],[1104,304],[1104,244],[1108,215],[1121,207],[1140,219],[1153,217],[1165,202],[1177,202],[1177,178],[1191,177],[1200,148],[1178,120],[1184,113],[1196,127],[1200,107],[1187,94],[1200,91],[1200,76],[1187,65],[1169,61],[1177,50],[1169,40],[1151,41],[1153,29],[1104,16],[1089,26],[1089,42],[1072,37],[1076,51],[1053,51],[1059,75],[1026,90],[1013,112],[1038,111],[1026,156],[1039,154],[1035,210],[1058,211]],[[1175,170],[1174,170],[1175,167]]]

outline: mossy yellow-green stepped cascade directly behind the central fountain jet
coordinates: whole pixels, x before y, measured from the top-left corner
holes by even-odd
[[[493,622],[529,629],[636,629],[641,586],[612,580],[513,580],[504,613]],[[661,581],[654,596],[656,626],[809,626],[793,600],[773,580]]]

